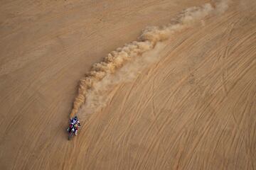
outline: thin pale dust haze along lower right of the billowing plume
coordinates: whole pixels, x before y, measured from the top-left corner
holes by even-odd
[[[104,108],[114,95],[114,85],[136,79],[144,68],[160,60],[161,55],[159,53],[164,47],[166,47],[164,42],[158,42],[154,50],[144,52],[141,57],[135,58],[132,62],[127,62],[122,68],[118,69],[118,72],[107,74],[92,89],[89,89],[85,96],[85,105],[78,111],[79,118],[86,120],[92,113]]]

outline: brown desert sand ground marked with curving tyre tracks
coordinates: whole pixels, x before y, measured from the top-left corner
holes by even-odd
[[[93,63],[206,2],[1,1],[0,169],[256,169],[254,0],[176,33],[67,140]]]

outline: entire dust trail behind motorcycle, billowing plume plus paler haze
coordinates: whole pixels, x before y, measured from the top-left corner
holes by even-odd
[[[85,101],[87,101],[87,106],[90,106],[91,112],[104,106],[104,101],[107,99],[101,98],[101,95],[106,91],[107,86],[132,79],[147,64],[156,60],[159,49],[164,45],[164,40],[169,39],[178,31],[191,27],[196,21],[202,21],[210,14],[222,13],[227,6],[228,1],[218,1],[213,5],[204,4],[187,8],[168,25],[147,27],[137,41],[117,48],[110,52],[102,62],[93,64],[90,72],[80,79],[78,96],[73,103],[70,117],[78,113]]]

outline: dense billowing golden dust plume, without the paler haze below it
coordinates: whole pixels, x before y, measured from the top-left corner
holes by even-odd
[[[214,6],[204,4],[203,6],[187,8],[168,25],[146,28],[137,41],[117,48],[117,50],[110,52],[102,62],[93,64],[90,72],[80,79],[78,96],[73,103],[70,117],[76,115],[82,104],[85,103],[88,91],[92,91],[95,85],[107,75],[115,74],[127,62],[134,62],[137,57],[142,57],[145,52],[154,50],[157,43],[169,39],[171,35],[190,27],[196,21],[201,21],[211,13],[223,12],[227,6],[227,1],[219,1]]]

